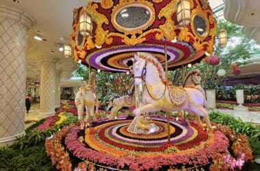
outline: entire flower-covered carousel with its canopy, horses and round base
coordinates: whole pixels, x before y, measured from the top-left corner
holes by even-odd
[[[80,124],[66,134],[66,148],[87,166],[108,170],[207,170],[229,140],[211,126],[199,71],[179,87],[166,75],[212,54],[216,27],[207,0],[101,0],[75,9],[67,48],[75,62],[89,72],[132,73],[134,84],[114,100],[108,118],[96,118],[99,92],[89,73],[75,98]],[[114,116],[120,101],[135,105],[133,116]],[[196,119],[178,120],[172,111]]]

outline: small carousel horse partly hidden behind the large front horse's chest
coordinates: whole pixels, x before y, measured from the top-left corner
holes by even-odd
[[[107,110],[109,110],[111,107],[112,109],[110,111],[110,116],[108,120],[112,120],[116,112],[122,107],[133,107],[135,105],[134,88],[135,85],[134,83],[132,83],[128,90],[129,94],[127,96],[112,96],[111,98],[109,98],[109,105],[107,106]]]

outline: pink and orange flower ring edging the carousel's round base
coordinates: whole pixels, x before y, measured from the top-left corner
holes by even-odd
[[[118,121],[122,122],[122,121]],[[112,122],[108,122],[112,123]],[[97,126],[98,127],[98,126]],[[101,128],[105,128],[103,124],[101,124]],[[99,133],[105,132],[107,135],[107,131],[98,131],[97,128],[86,129],[86,133],[91,135],[90,137],[86,137],[86,142],[88,145],[79,142],[78,135],[80,134],[79,127],[75,127],[71,129],[71,131],[66,135],[65,144],[66,148],[73,152],[73,155],[80,159],[92,161],[94,163],[99,163],[105,166],[120,168],[120,169],[130,169],[130,170],[149,170],[154,169],[158,170],[163,166],[200,166],[207,165],[210,163],[210,159],[216,155],[216,153],[224,153],[229,147],[229,140],[223,135],[220,131],[215,131],[210,133],[209,140],[203,140],[203,137],[200,135],[198,137],[199,143],[197,144],[196,138],[193,140],[195,142],[193,146],[185,146],[184,144],[169,146],[168,148],[164,147],[164,144],[157,144],[156,139],[153,138],[151,142],[155,143],[154,146],[157,146],[157,150],[151,150],[155,147],[151,144],[147,152],[144,152],[144,149],[141,148],[142,144],[135,146],[135,150],[133,148],[129,148],[127,150],[127,146],[129,146],[129,142],[117,142],[122,144],[121,148],[116,148],[116,144],[108,145],[107,141],[103,142],[102,140],[94,141],[94,137],[99,136]],[[122,128],[123,129],[123,128]],[[96,130],[96,131],[95,131]],[[200,131],[203,131],[202,129]],[[203,131],[207,133],[206,131]],[[138,136],[138,135],[136,135]],[[147,135],[148,136],[148,135]],[[88,139],[90,138],[90,139]],[[137,137],[135,137],[137,138]],[[145,139],[144,137],[142,137]],[[111,140],[111,137],[109,137]],[[134,139],[133,139],[134,140]],[[155,141],[155,142],[154,142]],[[92,144],[89,144],[92,142]],[[142,142],[142,141],[141,141]],[[107,144],[107,145],[105,145]],[[178,144],[178,143],[177,143]],[[192,142],[191,142],[192,144]],[[94,147],[97,146],[97,147]],[[139,147],[138,147],[139,146]],[[90,148],[91,147],[91,148]],[[94,150],[96,148],[96,150]],[[138,148],[141,150],[137,153]],[[99,150],[97,150],[99,149]],[[159,149],[159,150],[158,150]],[[164,150],[166,149],[166,150]],[[163,150],[163,151],[161,151]],[[153,152],[154,151],[154,152]],[[175,151],[175,152],[174,152]]]

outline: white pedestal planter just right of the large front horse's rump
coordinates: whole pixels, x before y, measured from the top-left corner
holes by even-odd
[[[216,83],[206,81],[204,88],[206,90],[207,104],[210,108],[216,108]]]

